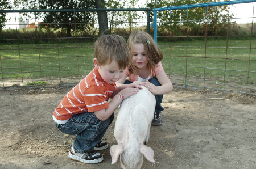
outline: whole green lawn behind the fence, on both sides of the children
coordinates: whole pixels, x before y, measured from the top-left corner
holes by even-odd
[[[230,38],[228,43],[207,40],[206,44],[207,48],[203,40],[158,42],[166,73],[218,79],[225,75],[225,80],[255,84],[255,37],[252,41]],[[0,56],[0,77],[4,79],[77,77],[93,69],[94,43],[0,44]]]

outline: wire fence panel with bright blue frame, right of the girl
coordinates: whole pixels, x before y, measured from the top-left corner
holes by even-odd
[[[253,3],[251,3],[253,2]],[[243,12],[246,14],[252,11],[250,16],[232,17],[230,9],[232,5],[238,4],[236,10],[241,10],[241,3],[250,3],[250,7]],[[228,7],[228,16],[226,18],[210,18],[209,8],[214,6]],[[193,10],[199,8],[204,11],[205,18],[196,20],[193,16]],[[174,11],[185,11],[187,19],[177,20],[171,19]],[[166,73],[172,82],[175,82],[177,87],[193,88],[197,90],[220,90],[222,92],[240,92],[243,94],[255,95],[256,92],[256,23],[255,23],[255,0],[240,0],[240,1],[222,1],[200,3],[194,5],[171,6],[153,9],[154,11],[154,39],[158,40],[167,38],[168,48],[166,52]],[[194,10],[196,11],[196,10]],[[158,17],[158,13],[167,12],[170,15],[170,20],[163,22]],[[212,20],[228,20],[226,35],[208,36],[208,23]],[[249,29],[244,35],[232,35],[231,23],[242,19],[250,19],[247,24]],[[189,35],[189,23],[201,22],[204,25],[204,35],[195,36]],[[172,30],[174,23],[187,27],[183,35],[175,35]],[[170,34],[168,37],[158,36],[161,27],[159,24],[168,24]],[[200,25],[200,24],[198,24]],[[179,40],[179,43],[175,41]],[[163,43],[158,43],[164,48]],[[184,50],[183,52],[175,52]],[[196,52],[197,51],[197,52]],[[181,60],[181,62],[177,62]],[[174,64],[175,63],[175,64]],[[175,72],[175,73],[174,73]]]

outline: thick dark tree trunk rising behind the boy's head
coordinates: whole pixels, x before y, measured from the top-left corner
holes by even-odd
[[[105,1],[104,0],[96,0],[96,8],[105,8]],[[102,35],[102,33],[106,34],[109,33],[108,31],[104,32],[105,30],[108,30],[108,16],[106,12],[99,12],[98,14],[98,23],[99,23],[99,35]]]

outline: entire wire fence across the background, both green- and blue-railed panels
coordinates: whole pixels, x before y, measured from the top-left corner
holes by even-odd
[[[193,7],[201,8],[207,13],[208,6],[200,6],[200,4],[179,6],[177,10],[189,10]],[[230,6],[230,4],[227,6]],[[149,27],[150,9],[105,9],[109,18],[118,18],[116,12],[127,12],[129,17],[133,11],[137,13],[141,11],[139,19],[129,20],[128,18],[125,22],[116,24],[115,27],[113,22],[109,22],[111,33],[127,37],[134,29],[140,29],[147,31],[152,36],[154,35],[156,42],[158,41],[157,43],[164,53],[162,61],[164,70],[175,87],[255,95],[256,36],[253,32],[255,29],[254,16],[250,16],[252,19],[250,35],[230,36],[227,33],[226,36],[211,37],[207,35],[206,27],[204,36],[190,36],[188,33],[187,35],[172,35],[170,33],[169,36],[160,36],[158,35],[158,32],[160,32],[159,24],[162,21],[157,17],[157,12],[164,10],[170,12],[171,17],[171,10],[176,9],[175,7],[154,9],[154,24],[152,25],[154,29],[151,29]],[[89,23],[93,25],[90,32],[86,28],[84,31],[76,31],[75,29],[71,37],[63,37],[61,31],[57,28],[51,31],[51,37],[49,35],[44,37],[44,29],[40,28],[39,24],[47,26],[49,24],[67,23],[42,23],[37,14],[54,12],[59,15],[65,12],[73,12],[75,17],[76,12],[90,12],[94,18],[97,18],[95,9],[0,10],[0,13],[3,12],[14,14],[15,22],[7,25],[7,27],[14,26],[15,28],[13,38],[0,39],[1,88],[75,86],[93,69],[94,41],[98,37],[99,23]],[[26,20],[18,23],[19,15],[22,13],[34,15],[35,24],[27,24]],[[242,18],[221,19],[231,21],[232,19]],[[206,17],[205,20],[202,20],[202,23],[207,23],[208,20],[209,18]],[[171,24],[175,22],[186,25],[189,22],[195,22],[195,20],[172,20],[168,22],[170,28],[167,31],[173,31]],[[88,25],[88,23],[76,22],[69,24],[72,24],[75,28],[79,25]],[[20,26],[26,27],[19,29]],[[20,31],[25,32],[25,35],[26,32],[30,32],[28,34],[34,32],[35,37],[20,37]],[[129,32],[128,35],[123,33],[127,31]],[[166,41],[166,39],[168,40]],[[234,41],[236,44],[233,45]]]

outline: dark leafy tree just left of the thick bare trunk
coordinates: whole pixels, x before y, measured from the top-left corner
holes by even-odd
[[[22,4],[28,9],[92,9],[96,7],[96,2],[93,0],[14,0],[16,5]],[[100,0],[104,4],[104,0]],[[101,4],[100,4],[101,5]],[[39,16],[38,16],[39,17]],[[47,28],[61,28],[67,31],[69,37],[72,36],[72,31],[91,29],[94,27],[94,16],[92,12],[47,12],[41,14],[43,22],[47,24]],[[101,23],[105,23],[104,16],[99,17]],[[108,23],[108,22],[106,22]],[[76,24],[76,25],[75,25]],[[108,24],[107,24],[108,26]],[[103,29],[108,29],[104,27]],[[102,29],[101,29],[102,31]]]

